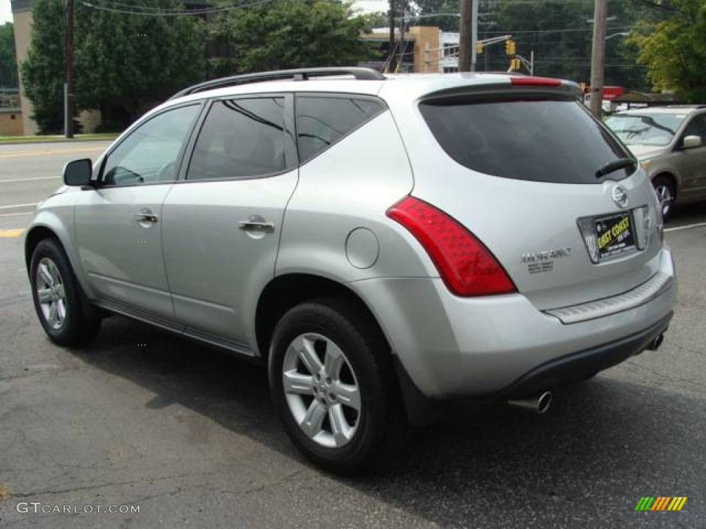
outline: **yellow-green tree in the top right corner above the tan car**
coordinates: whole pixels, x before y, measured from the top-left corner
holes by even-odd
[[[674,90],[687,102],[706,101],[706,1],[673,0],[677,14],[642,23],[631,37],[656,90]]]

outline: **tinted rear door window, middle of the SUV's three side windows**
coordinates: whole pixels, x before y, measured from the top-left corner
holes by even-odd
[[[227,99],[211,105],[187,180],[253,178],[283,171],[285,98]]]

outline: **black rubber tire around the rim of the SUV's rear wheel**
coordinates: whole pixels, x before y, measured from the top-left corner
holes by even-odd
[[[282,381],[285,354],[294,339],[307,333],[325,336],[340,348],[359,388],[360,413],[352,412],[357,420],[355,431],[342,446],[322,446],[306,434],[285,396]],[[358,305],[342,298],[322,298],[297,305],[277,323],[271,351],[270,394],[287,434],[306,457],[325,470],[342,475],[361,473],[391,460],[391,451],[399,449],[395,441],[405,427],[400,391],[387,343],[376,323]],[[321,358],[322,353],[318,354]],[[308,398],[302,397],[305,408],[308,405],[304,399]],[[312,396],[310,403],[316,400]],[[334,404],[331,406],[323,422],[328,420],[333,432],[330,413]],[[310,406],[307,409],[311,411]]]

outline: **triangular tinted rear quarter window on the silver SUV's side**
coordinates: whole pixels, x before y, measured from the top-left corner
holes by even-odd
[[[297,96],[297,147],[303,164],[385,110],[356,97]]]

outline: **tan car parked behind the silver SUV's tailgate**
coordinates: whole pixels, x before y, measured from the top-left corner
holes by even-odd
[[[706,200],[706,105],[628,110],[606,125],[652,178],[665,219],[674,204]]]

